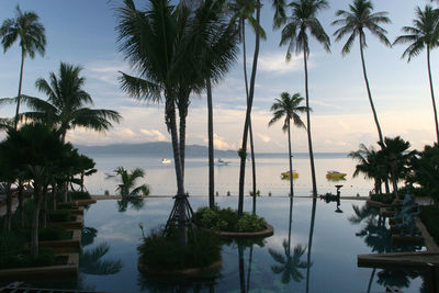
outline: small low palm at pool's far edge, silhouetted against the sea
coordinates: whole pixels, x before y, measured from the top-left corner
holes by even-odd
[[[133,171],[128,171],[123,167],[117,167],[114,172],[116,174],[114,176],[108,176],[108,178],[111,177],[120,177],[121,178],[121,184],[119,184],[116,191],[122,196],[127,196],[127,195],[148,195],[149,194],[149,188],[147,184],[142,184],[139,187],[136,185],[136,180],[138,178],[144,178],[145,177],[145,171],[140,168],[136,168]]]

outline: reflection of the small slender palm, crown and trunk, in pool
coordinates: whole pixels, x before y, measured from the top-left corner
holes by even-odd
[[[300,282],[303,280],[303,274],[300,269],[307,269],[311,266],[308,261],[301,261],[302,256],[305,253],[306,248],[302,245],[296,245],[291,255],[291,226],[293,222],[293,198],[290,196],[290,217],[289,217],[289,238],[282,243],[283,253],[277,252],[274,249],[269,249],[269,253],[279,264],[271,266],[273,273],[281,273],[281,282],[288,284],[291,280]]]

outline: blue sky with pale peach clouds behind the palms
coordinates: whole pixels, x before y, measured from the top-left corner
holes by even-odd
[[[148,1],[136,1],[144,9]],[[402,35],[401,29],[413,25],[415,8],[431,4],[428,0],[375,0],[374,11],[386,11],[391,24],[383,24],[389,40]],[[106,134],[76,128],[67,139],[77,145],[106,145],[117,143],[169,142],[165,125],[164,104],[148,104],[125,94],[117,82],[119,71],[130,72],[130,65],[117,50],[114,8],[120,0],[0,0],[0,21],[13,18],[16,4],[22,11],[34,11],[46,30],[46,53],[26,58],[22,92],[46,99],[35,89],[37,78],[47,79],[57,72],[60,61],[81,66],[86,78],[85,90],[91,94],[94,106],[119,111],[122,123]],[[272,30],[270,1],[262,1],[262,26],[267,40],[261,42],[256,92],[252,109],[252,127],[256,153],[288,151],[286,134],[282,122],[268,126],[270,106],[281,92],[305,94],[302,55],[293,55],[286,63],[286,47],[280,47],[280,30]],[[318,14],[331,40],[331,53],[314,40],[309,42],[308,59],[309,105],[314,151],[351,151],[359,144],[376,146],[378,132],[369,104],[358,40],[351,53],[342,56],[346,38],[336,43],[337,27],[330,23],[339,9],[348,10],[351,1],[329,0],[330,8]],[[435,3],[434,3],[435,5]],[[407,45],[384,46],[367,32],[364,50],[372,98],[383,135],[410,142],[423,149],[436,139],[431,95],[429,91],[426,53],[410,63],[401,59]],[[254,33],[247,27],[247,61],[251,67]],[[243,53],[229,74],[213,89],[214,133],[217,149],[238,149],[246,111],[243,74]],[[21,54],[15,43],[0,53],[0,97],[16,97]],[[438,89],[439,52],[431,53],[435,90]],[[436,83],[435,83],[436,82]],[[0,116],[13,116],[14,106],[1,106]],[[303,116],[303,121],[306,117]],[[0,133],[3,138],[4,133]],[[307,151],[306,131],[292,131],[293,151]],[[188,115],[187,144],[207,145],[207,111],[205,94],[191,97]]]

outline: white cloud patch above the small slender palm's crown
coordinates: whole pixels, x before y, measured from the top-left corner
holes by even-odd
[[[258,70],[280,75],[303,70],[302,58],[292,56],[290,61],[286,61],[285,53],[262,55],[259,57],[258,64]]]

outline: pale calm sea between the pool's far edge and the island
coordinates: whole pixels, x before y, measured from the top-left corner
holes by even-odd
[[[86,188],[91,194],[116,194],[120,183],[119,178],[108,178],[117,167],[127,170],[142,168],[145,178],[138,179],[137,184],[146,183],[150,188],[150,195],[171,196],[177,192],[176,172],[173,159],[171,164],[162,165],[161,157],[139,156],[130,154],[86,154],[93,158],[98,172],[86,178]],[[230,196],[238,194],[239,158],[226,157],[223,160],[227,165],[217,165],[215,158],[215,193],[218,196]],[[341,196],[367,196],[373,188],[373,182],[360,174],[352,178],[356,160],[341,153],[317,153],[315,154],[315,168],[318,194],[336,192],[335,185],[342,184]],[[258,154],[256,155],[256,182],[261,196],[288,196],[290,193],[290,181],[282,180],[281,172],[288,171],[288,154]],[[293,157],[293,169],[299,172],[294,179],[294,195],[307,196],[312,191],[309,159],[306,154],[295,154]],[[346,180],[331,181],[326,178],[326,172],[337,170],[347,173]],[[189,157],[185,159],[184,170],[185,191],[191,196],[207,196],[209,193],[209,161],[207,158]],[[251,162],[247,160],[245,194],[251,190]]]

